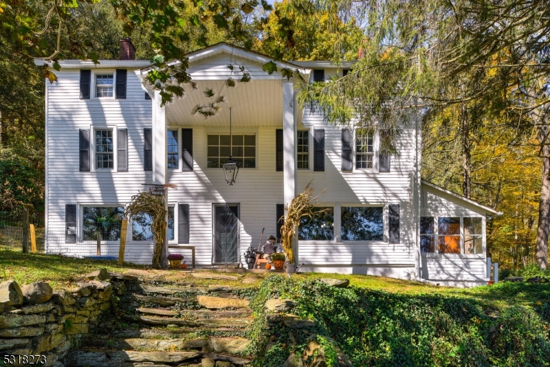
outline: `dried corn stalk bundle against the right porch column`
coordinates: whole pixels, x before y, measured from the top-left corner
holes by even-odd
[[[311,181],[309,181],[304,191],[292,199],[290,205],[287,205],[287,217],[281,227],[281,245],[283,246],[283,249],[285,249],[287,258],[291,263],[295,263],[294,252],[292,251],[292,241],[294,240],[298,227],[300,226],[300,219],[303,217],[308,217],[311,219],[313,216],[327,211],[319,210],[317,212],[313,212],[314,205],[318,204],[318,198],[323,192],[325,192],[325,190],[322,190],[316,196],[314,196],[314,191],[315,188],[311,187]]]

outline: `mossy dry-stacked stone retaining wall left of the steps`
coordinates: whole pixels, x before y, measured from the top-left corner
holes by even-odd
[[[0,362],[63,366],[58,360],[111,308],[111,294],[124,293],[128,279],[101,269],[80,277],[71,291],[54,290],[46,282],[21,288],[14,280],[0,283]]]

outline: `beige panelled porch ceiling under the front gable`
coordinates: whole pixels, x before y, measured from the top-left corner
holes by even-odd
[[[184,87],[183,98],[175,98],[166,105],[169,124],[181,126],[229,126],[229,108],[232,107],[233,126],[283,126],[283,85],[281,80],[250,80],[236,82],[227,87],[225,80],[199,80],[197,88]],[[212,89],[213,98],[204,91]],[[205,118],[200,113],[192,114],[197,104],[209,104],[218,96],[225,102],[219,103],[216,115]]]

